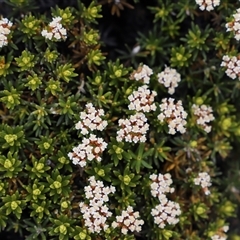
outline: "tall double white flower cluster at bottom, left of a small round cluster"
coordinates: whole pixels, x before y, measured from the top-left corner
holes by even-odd
[[[89,178],[89,182],[89,186],[84,187],[89,204],[80,202],[79,207],[88,230],[92,233],[99,233],[109,228],[106,221],[112,213],[105,203],[109,201],[108,195],[115,193],[116,189],[113,186],[104,187],[103,182],[96,181],[94,176]]]

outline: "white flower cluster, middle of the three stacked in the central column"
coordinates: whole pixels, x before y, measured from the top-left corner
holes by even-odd
[[[147,85],[143,85],[138,88],[137,91],[133,91],[128,96],[130,104],[128,105],[129,110],[136,110],[137,112],[150,112],[156,110],[156,104],[154,103],[154,97],[157,96],[155,91],[148,89]]]

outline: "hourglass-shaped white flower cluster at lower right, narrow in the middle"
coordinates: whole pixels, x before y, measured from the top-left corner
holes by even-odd
[[[154,217],[154,223],[159,228],[164,228],[166,224],[176,224],[179,222],[178,216],[181,214],[181,209],[178,203],[167,199],[166,193],[173,193],[174,188],[171,188],[172,178],[169,173],[152,174],[150,179],[151,194],[153,197],[158,197],[160,204],[151,210],[151,215]]]

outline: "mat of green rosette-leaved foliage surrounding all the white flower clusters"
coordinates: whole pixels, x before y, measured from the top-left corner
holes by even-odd
[[[225,24],[240,2],[222,0],[211,12],[199,10],[194,0],[120,2],[79,0],[44,12],[37,1],[2,5],[8,9],[3,17],[14,24],[8,45],[0,49],[1,232],[15,231],[29,240],[198,240],[211,239],[230,224],[229,239],[240,239],[240,84],[220,67],[223,55],[238,54],[239,43]],[[131,14],[140,25],[150,23],[148,30],[114,43],[101,24],[106,16],[117,22]],[[62,17],[66,41],[41,36],[52,16]],[[126,34],[123,40],[129,32],[120,33]],[[140,51],[133,51],[136,46]],[[155,73],[150,88],[158,93],[157,104],[169,95],[156,73],[167,65],[181,74],[173,97],[183,101],[189,114],[185,134],[169,135],[153,112],[147,114],[151,127],[146,143],[116,141],[118,120],[131,115],[127,97],[141,85],[130,80],[140,64]],[[108,127],[99,136],[108,149],[102,162],[89,162],[82,169],[72,164],[68,153],[81,141],[75,124],[89,102],[106,113]],[[213,108],[209,134],[196,125],[194,103]],[[201,171],[212,178],[210,196],[192,183]],[[157,202],[150,194],[149,175],[167,172],[175,188],[170,199],[180,204],[182,214],[178,224],[159,229],[150,215]],[[113,218],[129,205],[140,212],[145,222],[141,233],[123,236],[111,229],[91,234],[86,229],[78,204],[85,200],[83,188],[90,176],[116,187],[109,202]]]

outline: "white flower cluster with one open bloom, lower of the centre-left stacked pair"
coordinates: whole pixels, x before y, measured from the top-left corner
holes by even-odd
[[[101,154],[107,148],[107,143],[102,138],[90,134],[89,138],[83,138],[81,144],[73,148],[73,152],[68,153],[68,157],[74,165],[86,166],[86,161],[96,159],[98,162],[102,160]]]

